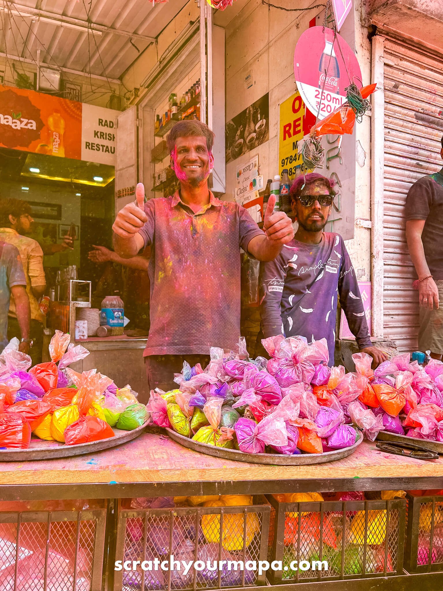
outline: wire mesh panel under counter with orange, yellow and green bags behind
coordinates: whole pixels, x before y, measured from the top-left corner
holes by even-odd
[[[282,571],[271,573],[273,583],[385,576],[402,571],[402,499],[298,504],[267,498],[275,505],[276,515],[268,560],[282,561]],[[272,531],[277,538],[273,545]],[[302,561],[305,564],[301,567]]]

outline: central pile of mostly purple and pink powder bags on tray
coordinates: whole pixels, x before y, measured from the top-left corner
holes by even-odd
[[[328,367],[325,339],[264,339],[271,359],[211,348],[206,369],[184,363],[178,388],[151,391],[147,405],[160,427],[201,443],[245,453],[323,453],[358,437],[346,414],[366,385],[360,374]],[[359,390],[357,391],[357,388]],[[372,412],[372,411],[371,411]],[[381,418],[374,420],[379,421]]]

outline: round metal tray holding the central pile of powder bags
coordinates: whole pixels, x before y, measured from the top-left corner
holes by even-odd
[[[324,453],[301,453],[297,456],[285,456],[281,453],[243,453],[236,449],[226,449],[225,447],[216,447],[207,443],[200,443],[179,435],[172,429],[165,429],[168,435],[180,445],[193,449],[196,452],[206,453],[209,456],[223,457],[226,460],[236,460],[237,462],[247,462],[250,464],[271,464],[273,466],[303,466],[306,464],[323,464],[325,462],[334,462],[344,457],[350,456],[359,447],[363,441],[363,435],[357,431],[357,440],[353,446],[345,449],[338,449],[335,452]]]

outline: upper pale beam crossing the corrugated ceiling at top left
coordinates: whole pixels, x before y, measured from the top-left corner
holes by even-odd
[[[121,35],[122,37],[128,37],[131,39],[139,39],[146,41],[146,43],[152,43],[155,41],[155,37],[146,37],[146,35],[140,35],[138,33],[129,33],[129,31],[122,31],[111,27],[105,27],[105,25],[98,25],[95,22],[87,22],[80,20],[79,18],[72,18],[66,16],[60,16],[54,14],[54,12],[48,12],[45,10],[38,10],[37,8],[27,7],[17,2],[8,2],[8,0],[0,0],[0,10],[11,11],[12,14],[17,14],[22,18],[31,18],[32,20],[38,21],[40,18],[44,22],[51,22],[57,27],[74,27],[84,29],[85,32],[92,31],[92,33],[112,33],[115,35]]]

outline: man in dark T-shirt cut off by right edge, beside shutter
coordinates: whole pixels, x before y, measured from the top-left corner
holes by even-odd
[[[443,137],[441,138],[443,158]],[[419,178],[406,197],[406,242],[418,280],[418,348],[443,354],[443,168]]]

